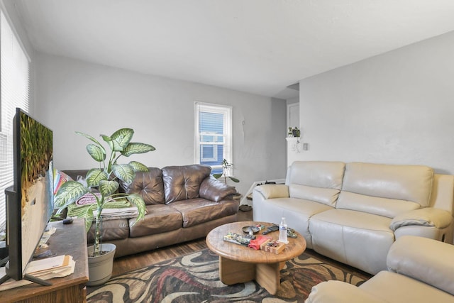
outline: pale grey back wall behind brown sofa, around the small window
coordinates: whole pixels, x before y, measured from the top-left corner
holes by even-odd
[[[233,106],[239,192],[255,180],[285,176],[284,100],[37,54],[36,115],[54,131],[57,168],[96,166],[85,151],[89,141],[74,131],[97,137],[121,127],[134,128],[133,141],[156,148],[134,160],[154,167],[193,164],[194,101],[203,101]]]

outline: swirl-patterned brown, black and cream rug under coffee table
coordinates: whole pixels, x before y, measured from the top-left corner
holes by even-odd
[[[204,249],[112,277],[100,287],[87,287],[87,302],[304,302],[311,287],[319,282],[340,280],[361,285],[368,278],[316,257],[303,253],[287,261],[275,296],[256,282],[223,284],[218,275],[218,256]]]

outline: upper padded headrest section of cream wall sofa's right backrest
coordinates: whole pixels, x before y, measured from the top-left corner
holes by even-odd
[[[432,182],[431,167],[352,162],[345,165],[342,190],[428,206]],[[340,197],[338,207],[343,203]]]

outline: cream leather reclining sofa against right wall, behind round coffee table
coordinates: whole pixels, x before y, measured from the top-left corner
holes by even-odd
[[[453,242],[454,176],[421,165],[294,162],[285,184],[253,190],[255,221],[279,223],[328,258],[375,275],[404,235]]]

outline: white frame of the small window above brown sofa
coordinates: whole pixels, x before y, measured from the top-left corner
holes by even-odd
[[[194,163],[200,164],[201,160],[201,136],[213,136],[209,135],[209,133],[201,133],[199,130],[199,123],[200,123],[200,112],[209,112],[214,114],[223,114],[223,141],[211,141],[205,142],[209,143],[206,145],[223,145],[223,159],[226,159],[227,162],[231,163],[233,158],[233,136],[232,136],[232,106],[223,105],[223,104],[211,104],[205,102],[194,102]],[[216,135],[219,137],[219,135]],[[215,156],[217,158],[217,154]],[[223,159],[218,159],[222,160]],[[220,169],[222,165],[210,165],[211,169]],[[228,175],[233,175],[233,170],[229,170]]]

